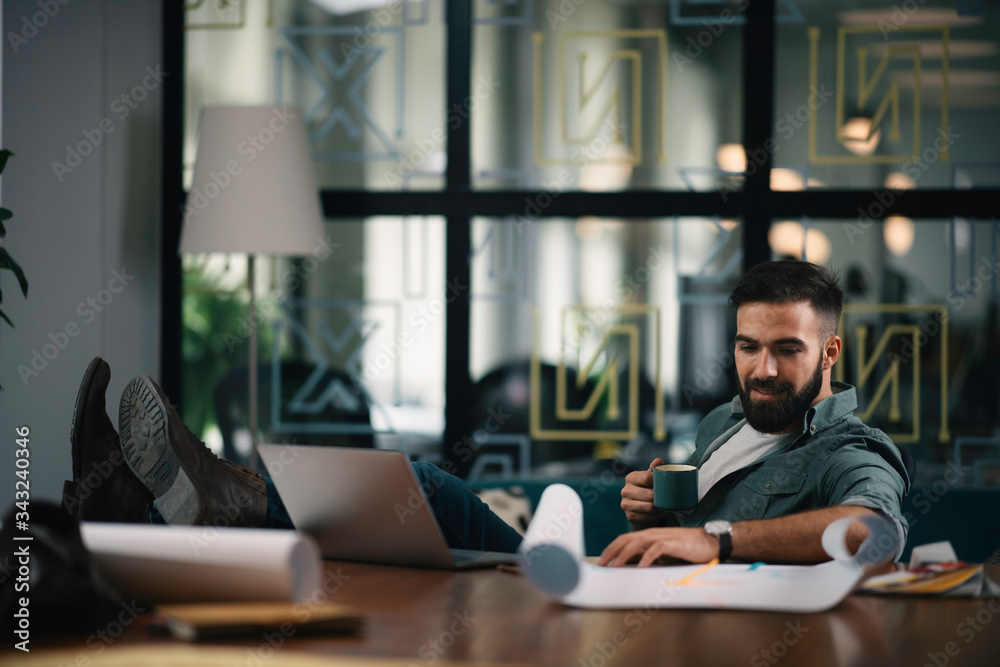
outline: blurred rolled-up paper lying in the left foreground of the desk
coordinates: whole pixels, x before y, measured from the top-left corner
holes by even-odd
[[[84,522],[80,533],[100,576],[145,602],[300,602],[323,567],[293,530]]]

